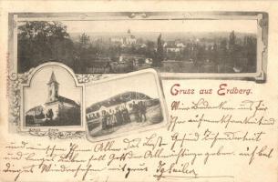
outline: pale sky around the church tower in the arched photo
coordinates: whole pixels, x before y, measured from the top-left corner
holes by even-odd
[[[46,84],[52,71],[59,83],[59,96],[65,96],[80,103],[81,90],[75,86],[74,79],[67,70],[60,66],[46,66],[36,72],[31,80],[31,86],[25,87],[25,111],[46,103],[48,90]]]

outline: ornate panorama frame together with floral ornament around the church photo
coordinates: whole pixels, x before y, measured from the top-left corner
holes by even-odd
[[[266,81],[268,51],[268,14],[265,12],[109,12],[109,13],[10,13],[9,14],[9,122],[20,130],[21,122],[21,86],[25,85],[36,68],[17,74],[17,25],[19,21],[65,20],[65,21],[98,21],[98,20],[242,20],[257,21],[257,72],[246,74],[188,74],[160,73],[162,79],[244,79],[262,83]],[[117,74],[118,76],[121,74]],[[79,84],[88,84],[113,75],[76,74]],[[85,130],[84,130],[85,131]],[[46,131],[30,130],[32,136],[49,136],[50,138],[74,138],[83,136],[84,131]]]

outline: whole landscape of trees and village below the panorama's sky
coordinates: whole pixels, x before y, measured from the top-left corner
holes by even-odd
[[[61,62],[75,73],[92,74],[149,67],[164,73],[255,73],[257,69],[256,35],[133,33],[131,29],[73,36],[61,22],[26,22],[18,27],[18,72],[47,61]]]

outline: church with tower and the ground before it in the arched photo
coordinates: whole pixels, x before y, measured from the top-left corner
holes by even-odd
[[[46,103],[26,112],[26,126],[79,126],[80,106],[76,101],[59,95],[59,83],[54,72],[46,85]]]

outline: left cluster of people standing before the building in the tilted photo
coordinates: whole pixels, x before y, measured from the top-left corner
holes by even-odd
[[[113,126],[120,126],[130,123],[129,110],[127,107],[116,108],[116,112],[109,110],[109,112],[103,110],[101,115],[102,129],[108,129]]]

